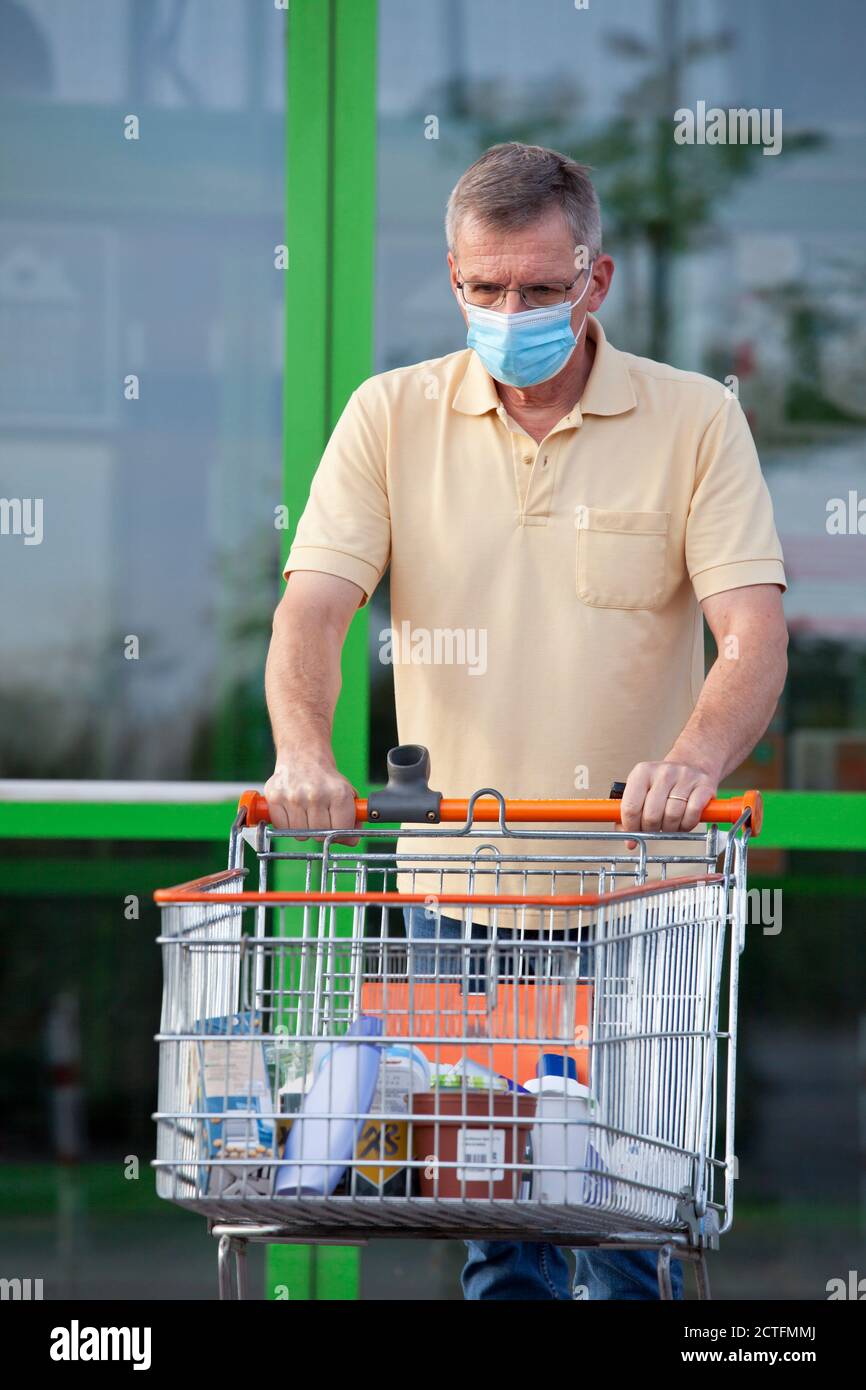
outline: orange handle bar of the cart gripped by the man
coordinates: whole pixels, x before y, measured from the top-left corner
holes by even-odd
[[[268,803],[257,791],[245,791],[238,809],[246,808],[246,823],[247,826],[257,826],[261,821],[268,823],[271,816],[268,810]],[[538,823],[571,823],[571,821],[592,821],[592,823],[610,823],[616,824],[621,815],[623,803],[614,799],[598,799],[598,801],[505,801],[505,819],[517,824],[518,821],[538,821]],[[498,821],[499,820],[500,803],[495,796],[480,796],[473,808],[473,820],[480,821]],[[760,834],[760,826],[763,820],[763,801],[759,791],[746,791],[742,796],[724,796],[713,798],[708,801],[701,820],[717,826],[733,826],[740,820],[744,810],[749,812],[751,817],[751,831],[753,835]],[[468,816],[468,801],[461,799],[446,799],[442,798],[439,802],[439,813],[432,820],[434,824],[439,821],[452,823],[466,823]],[[366,796],[357,796],[354,801],[354,823],[356,826],[364,824],[366,821],[378,820],[375,816],[370,816],[368,805]]]

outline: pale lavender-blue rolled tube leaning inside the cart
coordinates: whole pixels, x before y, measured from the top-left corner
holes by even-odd
[[[324,1056],[285,1143],[274,1193],[329,1197],[349,1166],[379,1073],[382,1020],[361,1015]],[[357,1038],[359,1041],[349,1041]]]

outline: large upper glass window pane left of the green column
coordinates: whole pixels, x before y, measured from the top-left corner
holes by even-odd
[[[0,493],[25,509],[0,543],[6,776],[245,778],[268,755],[284,22],[0,4]]]

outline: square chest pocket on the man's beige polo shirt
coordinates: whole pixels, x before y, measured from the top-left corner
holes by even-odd
[[[591,607],[653,609],[664,598],[670,512],[577,514],[577,596]]]

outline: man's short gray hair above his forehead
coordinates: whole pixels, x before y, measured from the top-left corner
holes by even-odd
[[[602,249],[602,214],[587,167],[542,145],[492,145],[470,164],[448,200],[448,249],[453,253],[466,217],[509,232],[537,222],[553,207],[563,213],[574,246],[585,246],[595,260]]]

